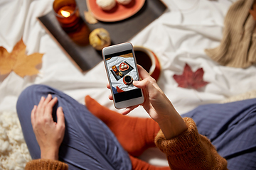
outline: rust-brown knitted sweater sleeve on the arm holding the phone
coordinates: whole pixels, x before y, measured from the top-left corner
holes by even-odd
[[[188,129],[181,135],[166,140],[160,130],[155,143],[167,156],[174,169],[227,169],[227,161],[220,157],[207,137],[200,135],[191,118],[183,118]]]

